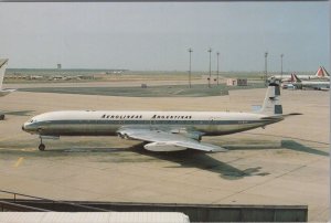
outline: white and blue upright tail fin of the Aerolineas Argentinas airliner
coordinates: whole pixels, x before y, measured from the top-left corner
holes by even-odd
[[[268,116],[277,116],[282,114],[282,106],[280,103],[280,87],[279,84],[270,83],[261,109],[258,112]]]

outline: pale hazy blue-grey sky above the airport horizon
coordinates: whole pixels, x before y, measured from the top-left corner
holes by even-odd
[[[263,71],[330,70],[330,7],[320,2],[0,2],[9,67]]]

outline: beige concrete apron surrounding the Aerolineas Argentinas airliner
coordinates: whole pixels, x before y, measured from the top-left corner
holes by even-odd
[[[0,190],[76,201],[308,205],[309,221],[325,222],[328,92],[281,91],[284,113],[303,115],[266,129],[203,138],[227,152],[150,152],[139,141],[117,137],[44,140],[42,152],[39,138],[21,130],[32,116],[62,109],[249,112],[261,104],[265,91],[164,98],[12,93],[0,98],[7,113],[0,121]]]

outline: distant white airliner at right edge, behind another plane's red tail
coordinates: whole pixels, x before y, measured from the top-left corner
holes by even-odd
[[[309,81],[309,79],[330,79],[330,74],[327,72],[327,70],[323,66],[320,66],[314,75],[297,75],[300,79]],[[290,75],[274,75],[270,76],[268,79],[270,82],[280,81],[284,82],[291,82],[292,79],[291,74]]]

